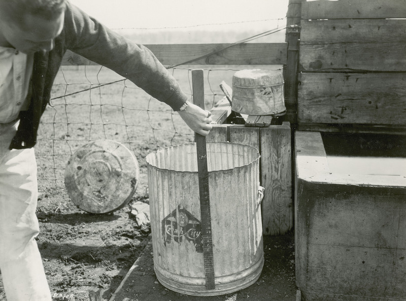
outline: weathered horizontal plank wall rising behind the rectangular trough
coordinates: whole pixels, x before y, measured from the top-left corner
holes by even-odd
[[[405,15],[398,0],[301,2],[299,129],[404,133]]]

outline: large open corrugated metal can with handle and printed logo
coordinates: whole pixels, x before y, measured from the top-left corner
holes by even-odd
[[[147,156],[154,269],[167,288],[220,295],[254,283],[263,266],[259,153],[208,142],[215,289],[205,288],[196,144]]]

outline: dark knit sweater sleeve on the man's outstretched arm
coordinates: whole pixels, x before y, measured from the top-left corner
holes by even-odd
[[[147,47],[111,31],[69,2],[64,34],[67,49],[129,79],[173,110],[186,102],[179,83]]]

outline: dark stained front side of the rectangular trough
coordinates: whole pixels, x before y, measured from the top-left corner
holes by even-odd
[[[298,238],[306,237],[296,252],[303,252],[297,274],[309,300],[405,300],[405,240],[397,238],[404,236],[404,191],[320,183],[304,189]]]

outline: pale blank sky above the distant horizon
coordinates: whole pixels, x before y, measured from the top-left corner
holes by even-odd
[[[71,2],[112,29],[205,26],[229,28],[236,25],[259,27],[264,23],[267,23],[265,26],[269,26],[272,19],[285,18],[288,7],[288,0],[71,0]],[[280,21],[280,24],[284,25],[286,21]]]

